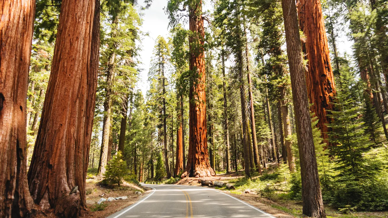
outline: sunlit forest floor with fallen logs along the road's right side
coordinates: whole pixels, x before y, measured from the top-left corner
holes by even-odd
[[[250,181],[244,179],[244,170],[228,174],[218,172],[217,176],[205,177],[204,179],[233,184],[236,188],[235,190],[229,190],[226,187],[208,188],[218,189],[230,194],[278,218],[302,217],[302,201],[291,200],[287,192],[281,191],[281,187],[284,187],[285,182],[271,180],[271,175],[274,174],[276,165],[275,163],[267,163],[267,170],[264,170],[263,175],[253,174],[254,176]],[[175,184],[201,186],[198,178],[190,177],[181,179]],[[325,204],[325,210],[327,218],[388,218],[388,211],[343,214],[338,209],[327,204]]]

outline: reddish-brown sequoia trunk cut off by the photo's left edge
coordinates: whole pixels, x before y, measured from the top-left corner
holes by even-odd
[[[26,109],[35,0],[0,3],[0,217],[35,213],[26,178]]]

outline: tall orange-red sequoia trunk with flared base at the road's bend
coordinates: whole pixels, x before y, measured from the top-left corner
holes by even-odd
[[[189,6],[189,37],[191,76],[189,92],[189,155],[182,178],[216,175],[209,163],[208,143],[206,140],[206,93],[205,60],[203,53],[204,26],[202,0]],[[196,76],[199,75],[199,76]]]

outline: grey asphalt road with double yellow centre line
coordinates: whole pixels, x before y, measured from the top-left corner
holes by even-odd
[[[215,189],[181,185],[143,185],[153,190],[137,203],[108,218],[274,218]]]

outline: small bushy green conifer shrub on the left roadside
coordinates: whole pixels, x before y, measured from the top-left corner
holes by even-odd
[[[114,155],[112,160],[110,160],[107,164],[104,181],[107,184],[117,184],[120,186],[121,180],[127,172],[126,162],[123,161],[123,155],[119,151],[117,152],[117,155]]]

